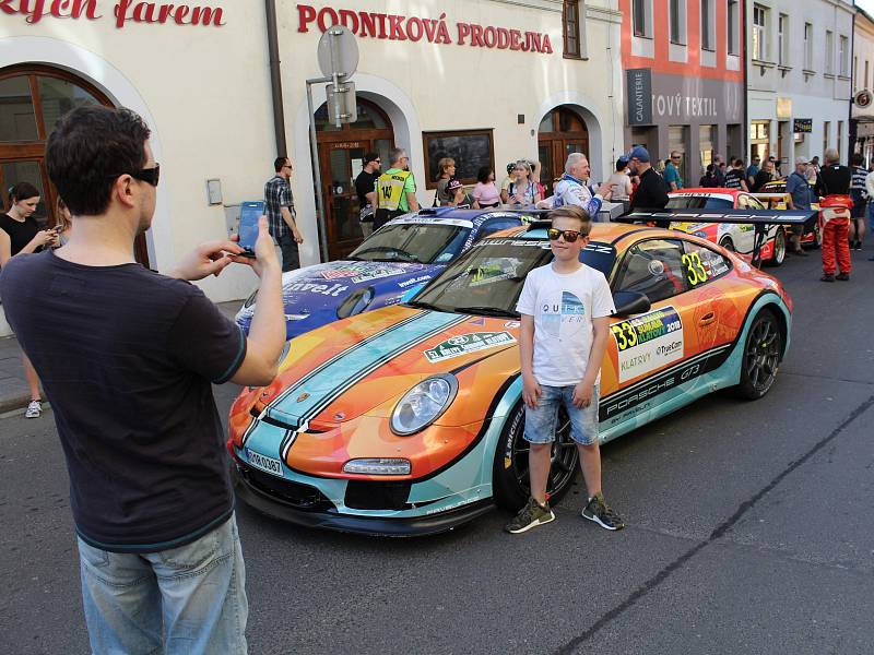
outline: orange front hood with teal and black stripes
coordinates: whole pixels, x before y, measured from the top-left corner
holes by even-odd
[[[487,395],[488,388],[518,372],[518,338],[513,320],[405,306],[367,312],[293,340],[258,409],[291,429],[329,430],[365,414],[390,416],[400,396],[433,376],[456,376],[460,396]],[[494,378],[488,381],[481,365],[493,358],[499,361],[488,367]],[[471,376],[476,390],[462,383]],[[441,424],[465,425],[477,416],[482,421],[482,413],[463,407],[474,404],[457,401]]]

